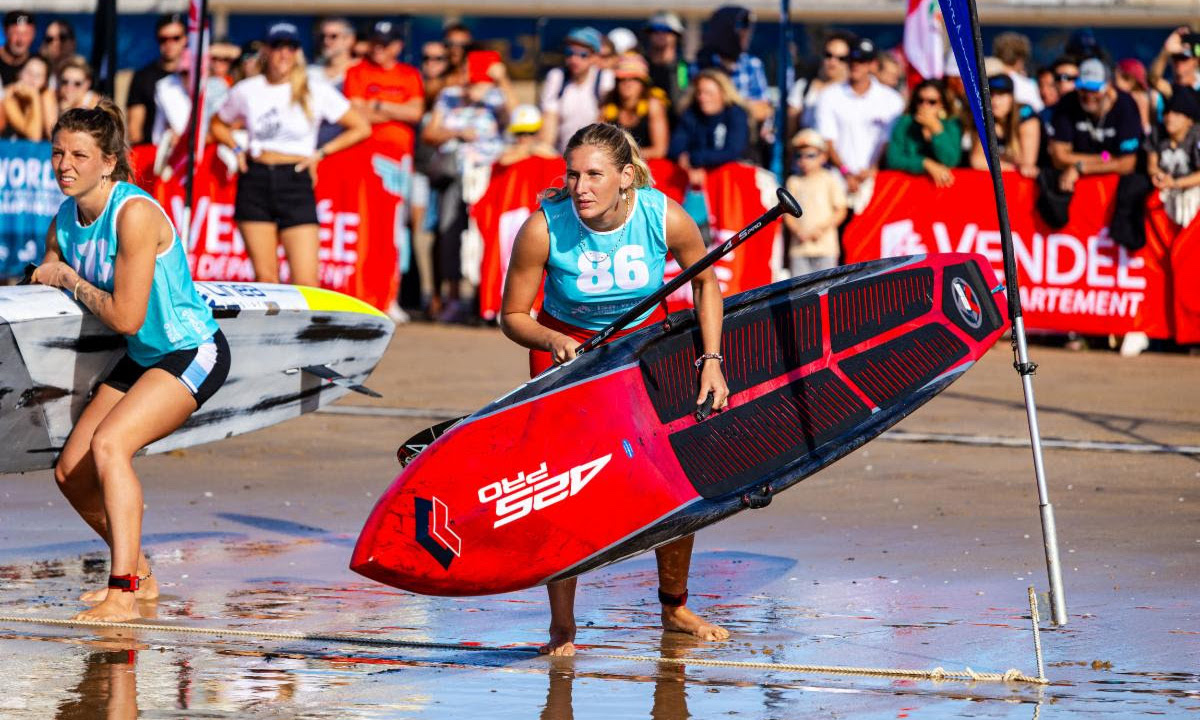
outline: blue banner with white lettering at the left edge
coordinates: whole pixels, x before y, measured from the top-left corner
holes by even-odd
[[[42,262],[46,229],[64,199],[49,143],[0,140],[0,278]]]

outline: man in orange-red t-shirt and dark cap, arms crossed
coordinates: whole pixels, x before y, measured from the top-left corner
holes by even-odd
[[[346,71],[346,97],[371,122],[371,138],[397,156],[413,154],[414,128],[425,114],[421,73],[400,61],[400,25],[380,20],[367,37],[371,49]]]

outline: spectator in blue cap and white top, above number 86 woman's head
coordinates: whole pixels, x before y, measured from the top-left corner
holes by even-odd
[[[541,137],[559,152],[575,131],[595,122],[600,98],[613,88],[612,73],[596,65],[602,44],[595,28],[572,29],[564,42],[563,66],[552,68],[542,83]]]

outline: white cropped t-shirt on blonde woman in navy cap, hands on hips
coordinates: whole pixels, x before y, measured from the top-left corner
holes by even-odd
[[[336,122],[350,109],[350,102],[318,70],[310,68],[308,109],[311,118],[292,101],[290,83],[271,85],[265,76],[254,76],[229,90],[217,116],[224,122],[245,120],[251,157],[263,152],[306,157],[317,150],[320,121]]]

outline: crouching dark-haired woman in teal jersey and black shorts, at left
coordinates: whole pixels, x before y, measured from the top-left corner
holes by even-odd
[[[192,284],[182,240],[130,182],[125,121],[110,101],[62,114],[52,164],[67,196],[32,281],[62,288],[116,332],[126,355],[97,388],[54,468],[59,490],[112,551],[108,587],[84,620],[140,618],[158,584],[142,552],[133,455],[184,424],[224,382],[229,346]]]

